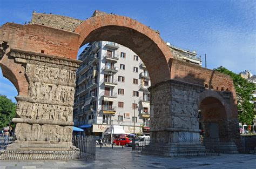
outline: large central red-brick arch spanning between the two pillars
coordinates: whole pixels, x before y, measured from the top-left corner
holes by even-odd
[[[151,84],[170,79],[169,59],[172,54],[164,40],[147,27],[131,18],[117,15],[100,15],[78,25],[79,45],[96,40],[116,42],[130,48],[143,60]]]

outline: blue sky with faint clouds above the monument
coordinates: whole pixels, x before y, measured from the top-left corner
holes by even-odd
[[[207,55],[207,68],[225,66],[235,73],[256,74],[256,1],[11,1],[0,0],[0,25],[24,24],[32,11],[78,19],[93,11],[116,13],[160,31],[166,42]],[[203,66],[204,66],[203,57]],[[0,93],[12,100],[17,91],[0,72]]]

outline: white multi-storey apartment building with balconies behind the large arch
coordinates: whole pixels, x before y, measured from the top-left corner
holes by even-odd
[[[170,47],[173,55],[201,66],[196,52]],[[184,59],[187,58],[187,59]],[[90,43],[80,54],[73,120],[86,135],[100,136],[111,124],[126,133],[149,134],[150,77],[142,60],[113,42]]]

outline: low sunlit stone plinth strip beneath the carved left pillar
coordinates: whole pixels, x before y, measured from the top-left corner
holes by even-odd
[[[11,151],[4,150],[0,160],[95,160],[95,155],[80,151]]]

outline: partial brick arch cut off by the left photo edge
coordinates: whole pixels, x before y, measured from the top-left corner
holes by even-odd
[[[4,55],[0,61],[2,73],[5,78],[10,80],[14,84],[18,95],[28,96],[28,80],[25,77],[25,68],[15,60],[9,59],[7,55]]]

